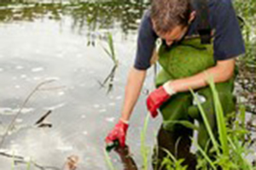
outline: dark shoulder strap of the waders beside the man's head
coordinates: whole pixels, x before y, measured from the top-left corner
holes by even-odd
[[[209,23],[208,0],[194,0],[196,5],[196,13],[201,22],[197,27],[197,31],[201,37],[202,44],[211,43],[211,26]]]

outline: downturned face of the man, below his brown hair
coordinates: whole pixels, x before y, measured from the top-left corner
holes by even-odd
[[[165,34],[157,33],[157,35],[166,40],[166,45],[171,46],[173,42],[180,41],[188,31],[188,26],[175,26],[172,31],[169,31]]]

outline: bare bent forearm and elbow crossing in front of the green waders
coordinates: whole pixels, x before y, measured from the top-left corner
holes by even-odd
[[[220,60],[217,65],[196,74],[192,77],[183,79],[177,79],[172,82],[168,82],[169,87],[176,93],[189,91],[189,88],[198,89],[207,86],[208,77],[213,77],[215,83],[225,82],[233,76],[235,69],[235,59]]]

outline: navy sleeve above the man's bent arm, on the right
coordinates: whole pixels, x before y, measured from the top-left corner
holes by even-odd
[[[215,28],[214,59],[231,59],[244,54],[245,46],[231,1],[218,0],[212,12],[212,21]]]

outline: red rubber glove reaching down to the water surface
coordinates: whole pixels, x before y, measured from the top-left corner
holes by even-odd
[[[125,137],[129,124],[119,120],[119,122],[113,127],[113,130],[108,133],[105,141],[107,144],[113,143],[114,140],[118,139],[121,147],[125,147]]]

